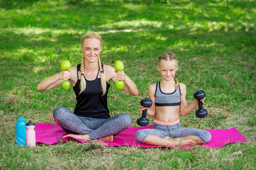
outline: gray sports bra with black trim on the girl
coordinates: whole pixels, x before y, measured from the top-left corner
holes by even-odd
[[[155,106],[180,106],[180,95],[180,86],[173,93],[164,93],[159,81],[155,88]]]

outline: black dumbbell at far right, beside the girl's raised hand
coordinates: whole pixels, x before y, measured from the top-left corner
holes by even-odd
[[[198,110],[195,111],[195,116],[198,118],[204,118],[207,116],[207,110],[203,109],[203,104],[200,101],[205,97],[205,92],[204,91],[195,91],[193,93],[194,98],[198,100]]]

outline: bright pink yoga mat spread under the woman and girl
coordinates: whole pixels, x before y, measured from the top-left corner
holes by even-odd
[[[146,129],[152,128],[152,126],[144,126],[144,127],[136,127],[136,128],[128,128],[123,132],[119,133],[114,137],[113,142],[102,141],[103,144],[108,146],[135,146],[135,147],[142,147],[142,148],[155,148],[159,146],[155,145],[146,145],[143,144],[135,139],[135,132],[139,129]],[[205,129],[207,130],[207,129]],[[58,139],[62,141],[68,141],[72,139],[72,137],[65,137],[66,132],[61,128],[59,125],[54,124],[36,124],[36,142],[42,144],[56,144]],[[236,128],[230,129],[214,129],[214,130],[207,130],[211,133],[211,141],[207,144],[198,145],[201,148],[220,148],[230,143],[246,143],[247,139],[241,135]],[[82,139],[76,139],[77,141],[81,142],[88,142],[83,141]],[[169,148],[177,148],[173,146],[168,146]],[[180,146],[181,149],[187,148],[194,148],[194,146]]]

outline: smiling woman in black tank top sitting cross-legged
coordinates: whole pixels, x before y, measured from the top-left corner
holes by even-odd
[[[107,105],[110,80],[123,80],[123,88],[130,95],[137,96],[139,91],[124,71],[101,63],[100,53],[102,39],[97,33],[83,35],[81,64],[73,66],[68,71],[61,71],[43,79],[37,86],[40,91],[47,91],[68,80],[76,94],[74,113],[67,108],[58,107],[54,110],[54,120],[67,132],[66,136],[83,140],[103,139],[113,141],[113,135],[123,131],[132,123],[128,113],[115,117],[109,115]]]

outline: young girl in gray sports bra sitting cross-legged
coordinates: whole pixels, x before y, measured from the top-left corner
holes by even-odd
[[[186,86],[179,83],[177,69],[175,55],[164,53],[158,57],[157,70],[162,79],[148,88],[153,105],[150,108],[140,106],[140,113],[148,109],[147,115],[155,117],[153,129],[138,130],[135,134],[138,141],[157,146],[178,146],[195,142],[206,144],[211,140],[211,134],[205,130],[180,126],[179,113],[186,116],[197,106],[198,101],[194,99],[191,104],[186,103]],[[201,99],[203,104],[204,99]]]

